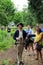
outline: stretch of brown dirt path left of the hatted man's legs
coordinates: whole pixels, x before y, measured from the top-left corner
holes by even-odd
[[[9,59],[11,65],[12,65],[16,59],[16,56],[17,56],[17,50],[16,50],[15,46],[12,46],[10,49],[5,50],[2,53],[0,52],[0,62],[2,60]]]

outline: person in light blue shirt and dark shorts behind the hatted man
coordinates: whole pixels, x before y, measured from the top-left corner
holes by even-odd
[[[31,26],[28,25],[27,26],[27,30],[26,30],[26,33],[27,33],[27,36],[28,36],[28,39],[27,39],[27,50],[30,51],[31,47],[32,47],[32,54],[28,54],[29,56],[30,55],[35,55],[34,54],[34,47],[33,47],[33,40],[32,40],[32,37],[30,37],[30,35],[32,35],[32,29],[31,29]]]

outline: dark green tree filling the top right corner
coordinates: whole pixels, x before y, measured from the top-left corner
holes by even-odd
[[[30,6],[31,12],[35,13],[38,23],[43,23],[43,0],[28,0],[28,2],[28,6]]]

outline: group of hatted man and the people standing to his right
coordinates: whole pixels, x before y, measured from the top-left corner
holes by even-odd
[[[24,30],[23,29],[24,25],[22,23],[17,24],[17,27],[18,29],[15,31],[13,35],[13,39],[16,40],[15,44],[18,50],[17,65],[24,64],[22,60],[24,47],[28,52],[32,48],[33,51],[32,55],[35,56],[34,45],[37,53],[36,60],[39,60],[39,56],[40,56],[40,59],[42,61],[41,50],[43,48],[43,30],[39,26],[36,26],[33,32],[30,25],[28,25],[26,30]],[[30,55],[31,54],[29,54],[29,56]]]

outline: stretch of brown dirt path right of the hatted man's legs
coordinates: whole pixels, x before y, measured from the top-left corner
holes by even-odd
[[[28,56],[26,51],[23,52],[23,60],[25,65],[43,65],[43,63],[41,63],[40,60],[37,61],[35,60],[35,58],[36,56]]]

